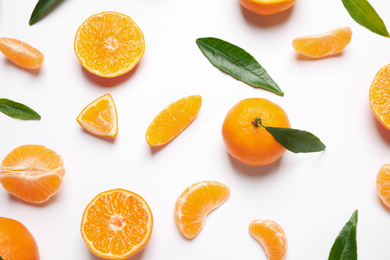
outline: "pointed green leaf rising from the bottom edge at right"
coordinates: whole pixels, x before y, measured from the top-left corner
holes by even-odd
[[[334,241],[328,260],[357,260],[357,220],[358,211],[355,210]]]

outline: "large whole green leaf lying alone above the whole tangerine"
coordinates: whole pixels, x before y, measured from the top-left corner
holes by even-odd
[[[222,71],[256,88],[283,96],[283,91],[267,71],[240,47],[217,38],[199,38],[196,44],[209,61]]]

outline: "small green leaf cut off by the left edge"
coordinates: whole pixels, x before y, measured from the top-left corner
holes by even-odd
[[[41,119],[41,116],[28,106],[6,98],[0,98],[0,112],[20,119]]]

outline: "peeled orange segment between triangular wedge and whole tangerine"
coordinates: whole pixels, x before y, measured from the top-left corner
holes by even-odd
[[[165,107],[146,130],[146,141],[161,146],[172,141],[191,124],[202,106],[202,98],[192,95],[181,98]]]

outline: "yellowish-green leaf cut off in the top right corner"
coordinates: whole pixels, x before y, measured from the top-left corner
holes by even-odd
[[[390,37],[382,19],[367,0],[341,0],[351,17],[379,35]]]

